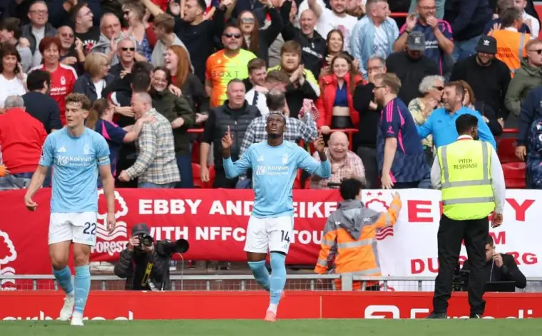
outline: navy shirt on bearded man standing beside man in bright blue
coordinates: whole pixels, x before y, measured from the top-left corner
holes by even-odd
[[[392,182],[418,182],[429,177],[424,149],[409,109],[399,98],[394,98],[382,109],[377,132],[377,162],[382,175],[384,143],[387,138],[397,139],[397,150],[390,175]]]

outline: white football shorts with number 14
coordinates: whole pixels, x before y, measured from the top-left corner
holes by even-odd
[[[294,229],[294,217],[256,218],[250,216],[247,226],[245,251],[288,253]]]

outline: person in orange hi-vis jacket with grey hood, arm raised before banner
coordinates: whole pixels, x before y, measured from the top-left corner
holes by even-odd
[[[335,273],[361,276],[382,276],[377,256],[377,229],[394,226],[401,211],[401,198],[393,195],[387,212],[369,209],[362,202],[363,182],[359,179],[343,179],[340,186],[342,201],[329,215],[322,248],[315,266],[315,273],[325,274],[334,258]],[[341,282],[335,280],[337,290]],[[354,281],[354,290],[362,290],[362,281]],[[379,290],[378,281],[367,281],[365,290]]]

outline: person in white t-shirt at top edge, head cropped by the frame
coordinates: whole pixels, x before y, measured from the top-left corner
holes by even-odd
[[[322,36],[327,36],[329,31],[338,29],[344,36],[344,51],[350,52],[350,36],[357,23],[357,17],[347,14],[349,0],[330,0],[327,9],[317,3],[317,0],[307,0],[309,8],[315,12],[318,19],[317,31]]]

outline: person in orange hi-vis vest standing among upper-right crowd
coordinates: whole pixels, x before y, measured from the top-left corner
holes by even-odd
[[[496,58],[508,65],[512,77],[521,68],[523,57],[527,57],[525,45],[531,40],[530,34],[518,32],[522,24],[519,9],[506,9],[501,16],[500,29],[490,33],[497,41]]]

